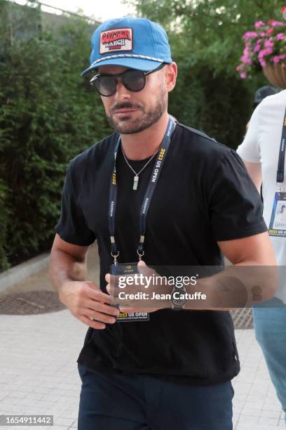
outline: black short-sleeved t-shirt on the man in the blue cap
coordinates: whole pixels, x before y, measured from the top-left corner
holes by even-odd
[[[117,139],[118,133],[114,133],[71,161],[62,214],[55,227],[63,240],[76,245],[97,240],[104,292],[104,275],[113,262],[108,197]],[[130,164],[139,171],[146,161]],[[154,162],[139,175],[139,187],[134,191],[134,174],[118,151],[119,262],[137,261],[139,210]],[[147,216],[147,265],[222,265],[217,241],[266,230],[259,194],[236,152],[177,124]],[[217,384],[239,372],[233,323],[226,311],[163,309],[150,313],[148,322],[115,323],[105,330],[89,328],[79,363],[91,370],[176,377],[189,384]]]

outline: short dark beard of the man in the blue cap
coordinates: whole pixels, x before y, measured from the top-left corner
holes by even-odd
[[[112,106],[110,109],[111,114],[107,113],[107,120],[109,122],[109,125],[114,130],[118,131],[118,133],[135,134],[148,129],[151,125],[158,122],[165,110],[167,110],[167,106],[168,93],[165,91],[161,91],[156,100],[156,105],[154,107],[149,108],[149,110],[145,110],[144,105],[138,103],[116,103],[116,105]],[[120,119],[114,120],[114,118],[112,117],[112,111],[124,108],[137,108],[142,111],[142,115],[139,119],[130,119],[130,115],[128,115],[127,112],[125,117],[121,117]]]

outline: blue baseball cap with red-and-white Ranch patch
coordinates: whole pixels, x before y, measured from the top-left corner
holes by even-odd
[[[81,76],[101,65],[121,65],[136,70],[154,70],[172,63],[168,36],[156,22],[125,16],[103,22],[91,37],[90,67]]]

